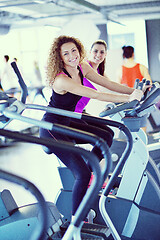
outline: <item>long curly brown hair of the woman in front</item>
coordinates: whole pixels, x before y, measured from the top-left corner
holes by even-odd
[[[68,43],[68,42],[72,42],[76,45],[80,54],[80,63],[85,58],[86,52],[85,52],[84,46],[78,38],[69,37],[65,35],[55,38],[49,51],[47,68],[46,68],[47,82],[50,87],[52,87],[54,79],[57,76],[57,74],[59,74],[63,70],[64,66],[63,66],[61,55],[60,55],[60,50],[61,50],[61,46],[64,43]]]

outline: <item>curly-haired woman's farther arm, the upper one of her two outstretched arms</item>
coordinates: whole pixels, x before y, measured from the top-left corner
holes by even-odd
[[[101,76],[100,74],[96,73],[92,69],[92,67],[90,67],[86,63],[82,63],[82,69],[83,69],[83,74],[87,79],[111,91],[123,93],[123,94],[131,94],[134,91],[134,88],[130,88],[120,83],[111,81],[107,76]]]

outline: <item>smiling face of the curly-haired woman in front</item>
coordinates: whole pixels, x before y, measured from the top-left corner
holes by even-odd
[[[72,42],[61,46],[61,58],[64,66],[75,67],[79,64],[80,54],[76,45]]]

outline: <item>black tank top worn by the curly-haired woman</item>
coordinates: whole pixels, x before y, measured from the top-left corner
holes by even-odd
[[[78,70],[81,78],[81,84],[83,85],[83,73],[79,66],[78,66]],[[63,69],[63,72],[68,77],[72,78],[66,69]],[[78,96],[70,92],[67,92],[61,95],[56,93],[54,90],[52,90],[52,96],[50,98],[48,106],[74,112],[77,102],[80,99],[81,99],[81,96]],[[47,112],[45,113],[43,119],[52,123],[60,123],[65,125],[69,125],[69,122],[70,122],[69,117],[63,117],[63,116],[59,116],[59,115],[47,113]]]

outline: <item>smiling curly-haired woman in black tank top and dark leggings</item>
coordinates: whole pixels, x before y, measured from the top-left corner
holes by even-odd
[[[84,57],[85,50],[78,39],[69,36],[59,36],[54,39],[47,65],[47,80],[52,88],[50,107],[74,112],[76,104],[82,96],[105,102],[128,102],[134,99],[141,99],[143,95],[141,90],[135,90],[112,82],[108,77],[98,74],[84,61]],[[91,82],[121,94],[103,93],[86,87],[83,85],[84,77]],[[94,133],[105,139],[109,146],[112,144],[113,132],[110,128],[106,131],[99,126],[91,126],[86,122],[74,121],[70,117],[47,112],[44,114],[43,120]],[[40,136],[63,140],[73,144],[82,143],[82,141],[72,139],[54,130],[48,131],[41,128]],[[72,171],[75,177],[72,193],[72,215],[74,216],[88,188],[91,169],[81,156],[73,153],[66,155],[65,152],[55,150],[54,148],[50,148],[49,151],[54,153]],[[93,148],[93,151],[99,156],[97,149]]]

